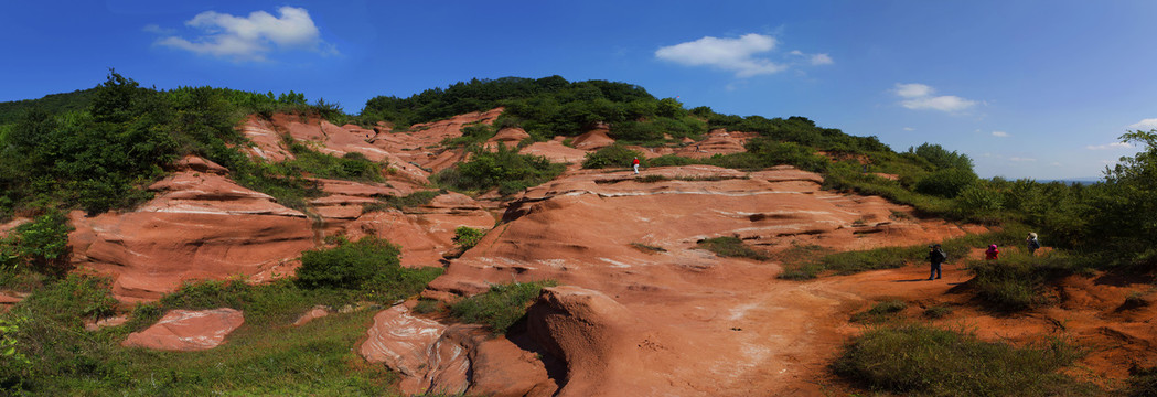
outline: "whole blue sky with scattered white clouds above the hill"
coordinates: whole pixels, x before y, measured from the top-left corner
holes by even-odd
[[[1099,176],[1157,128],[1157,1],[6,1],[0,101],[104,81],[303,93],[356,113],[472,78],[602,79],[804,116],[983,177]]]

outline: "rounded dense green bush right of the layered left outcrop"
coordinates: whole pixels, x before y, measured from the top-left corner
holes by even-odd
[[[297,269],[297,281],[310,288],[360,289],[379,273],[397,271],[397,245],[373,236],[332,249],[305,251]]]

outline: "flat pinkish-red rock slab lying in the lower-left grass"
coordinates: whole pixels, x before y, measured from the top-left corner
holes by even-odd
[[[216,347],[245,322],[234,309],[171,310],[148,329],[128,334],[120,345],[163,351],[200,351]]]

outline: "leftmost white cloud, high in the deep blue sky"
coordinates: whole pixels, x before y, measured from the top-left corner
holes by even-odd
[[[317,25],[304,8],[281,7],[278,14],[280,16],[274,17],[266,12],[253,12],[248,17],[241,17],[204,12],[185,22],[186,27],[202,31],[201,36],[192,39],[167,36],[157,39],[156,44],[238,61],[266,60],[273,50],[337,53],[332,45],[322,41]],[[146,30],[163,31],[160,27],[146,27]]]

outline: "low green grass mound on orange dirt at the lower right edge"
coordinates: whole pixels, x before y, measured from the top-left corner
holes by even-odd
[[[853,339],[832,369],[872,391],[900,395],[1090,395],[1090,385],[1056,373],[1079,355],[1062,340],[1017,348],[970,333],[901,324]]]

